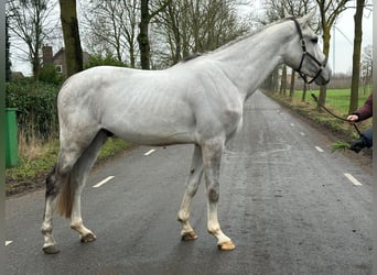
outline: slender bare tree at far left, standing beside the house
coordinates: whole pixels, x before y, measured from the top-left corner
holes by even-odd
[[[9,30],[11,36],[18,40],[13,40],[12,45],[26,56],[25,59],[31,63],[35,79],[41,65],[40,50],[56,26],[56,21],[50,16],[54,8],[55,2],[52,0],[7,1]]]

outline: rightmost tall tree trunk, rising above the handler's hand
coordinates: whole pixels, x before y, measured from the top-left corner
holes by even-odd
[[[363,9],[365,0],[356,1],[355,20],[355,38],[354,38],[354,55],[352,66],[352,81],[351,81],[351,100],[348,113],[352,113],[358,106],[358,84],[360,75],[360,53],[363,40]]]

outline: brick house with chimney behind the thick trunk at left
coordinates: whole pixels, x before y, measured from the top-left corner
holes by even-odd
[[[87,52],[83,52],[83,63],[87,63],[89,59],[89,54]],[[53,55],[52,46],[44,45],[42,47],[42,66],[44,64],[53,64],[56,68],[56,72],[62,74],[63,76],[67,76],[67,65],[65,61],[65,51],[62,47],[55,55]]]

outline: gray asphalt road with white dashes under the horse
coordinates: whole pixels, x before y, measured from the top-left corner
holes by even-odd
[[[4,274],[371,274],[371,166],[332,154],[331,142],[257,92],[222,165],[219,220],[235,251],[206,232],[203,183],[192,206],[198,239],[180,240],[193,145],[136,147],[90,175],[82,207],[93,243],[56,216],[62,252],[45,255],[44,191],[8,199]]]

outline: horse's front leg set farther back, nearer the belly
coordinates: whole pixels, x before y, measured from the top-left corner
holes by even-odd
[[[195,231],[192,229],[190,219],[190,206],[193,197],[196,194],[197,187],[201,183],[203,175],[203,161],[202,150],[195,145],[194,155],[190,168],[190,174],[186,179],[186,189],[183,196],[180,211],[177,213],[177,220],[182,223],[181,237],[184,241],[191,241],[197,239]]]

